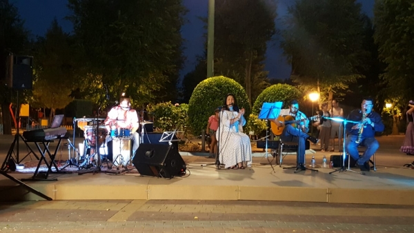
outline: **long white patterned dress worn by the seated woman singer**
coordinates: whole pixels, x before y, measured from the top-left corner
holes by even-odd
[[[236,118],[237,112],[223,110],[220,112],[220,124],[216,136],[219,141],[219,160],[226,168],[237,165],[237,163],[247,162],[251,165],[252,147],[250,138],[239,132],[239,121],[230,125],[230,120]],[[246,124],[246,119],[242,117],[242,125]]]

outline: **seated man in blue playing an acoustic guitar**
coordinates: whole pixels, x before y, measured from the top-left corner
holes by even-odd
[[[269,121],[273,121],[277,127],[284,128],[282,134],[280,135],[280,139],[282,139],[282,141],[292,141],[299,144],[296,160],[297,169],[305,170],[305,141],[309,140],[313,143],[317,143],[318,141],[313,136],[309,136],[307,134],[309,131],[309,121],[306,119],[306,115],[299,111],[299,103],[297,103],[297,100],[295,99],[289,102],[289,109],[280,111],[279,116],[282,116],[284,119],[293,118],[295,123],[298,123],[297,125],[285,124],[285,121],[281,121],[281,117],[278,117],[277,119],[269,119]]]

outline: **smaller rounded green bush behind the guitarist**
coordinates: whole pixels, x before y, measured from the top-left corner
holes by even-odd
[[[297,99],[300,101],[300,98],[302,97],[303,94],[293,85],[281,83],[270,85],[270,87],[263,90],[257,97],[255,104],[253,105],[252,113],[259,115],[260,109],[265,102],[274,103],[282,101],[282,108],[288,108],[290,100]]]

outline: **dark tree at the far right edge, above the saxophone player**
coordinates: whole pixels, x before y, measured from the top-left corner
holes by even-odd
[[[404,105],[413,96],[414,3],[412,1],[375,1],[375,43],[380,59],[386,63],[382,79],[384,94]],[[401,110],[404,110],[401,109]]]

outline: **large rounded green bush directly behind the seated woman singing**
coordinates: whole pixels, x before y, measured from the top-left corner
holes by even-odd
[[[246,121],[250,114],[247,94],[242,85],[223,76],[212,77],[201,81],[194,89],[188,103],[189,125],[194,135],[199,135],[201,130],[206,130],[208,117],[214,114],[214,110],[223,105],[227,94],[234,94],[239,108],[244,108]]]

